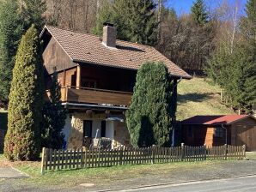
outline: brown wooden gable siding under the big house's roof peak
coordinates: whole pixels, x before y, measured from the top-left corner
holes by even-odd
[[[77,66],[73,63],[70,57],[64,52],[55,39],[51,39],[43,52],[44,65],[48,74],[53,73],[53,68],[56,67],[57,71],[70,69]]]

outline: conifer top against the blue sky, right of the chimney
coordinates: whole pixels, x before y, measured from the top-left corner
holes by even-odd
[[[204,0],[196,0],[192,5],[192,18],[193,21],[199,25],[204,26],[208,22],[209,15],[206,12]]]

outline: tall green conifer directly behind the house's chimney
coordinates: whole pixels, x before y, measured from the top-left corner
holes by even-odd
[[[107,9],[108,8],[108,9]],[[156,5],[152,0],[115,0],[100,10],[93,32],[102,33],[102,21],[118,28],[118,38],[145,45],[155,45],[157,33]]]

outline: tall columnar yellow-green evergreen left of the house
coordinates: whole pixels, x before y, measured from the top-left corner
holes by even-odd
[[[11,160],[33,160],[40,154],[43,69],[40,39],[34,25],[22,36],[9,93],[4,154]]]

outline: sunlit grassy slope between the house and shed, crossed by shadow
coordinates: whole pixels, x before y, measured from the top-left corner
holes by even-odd
[[[195,115],[234,114],[220,99],[220,87],[210,85],[203,78],[182,80],[178,85],[177,120]]]

